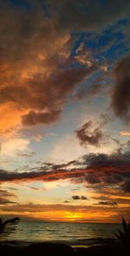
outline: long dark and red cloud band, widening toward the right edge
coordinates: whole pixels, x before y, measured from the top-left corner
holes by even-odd
[[[49,163],[28,169],[27,172],[7,172],[0,170],[0,183],[13,182],[55,182],[69,180],[74,184],[82,184],[97,190],[97,188],[118,187],[120,191],[128,191],[130,179],[130,153],[115,152],[107,154],[88,154],[74,162],[65,165]],[[61,168],[60,168],[61,167]],[[125,185],[126,183],[126,185]],[[83,198],[82,198],[83,199]]]

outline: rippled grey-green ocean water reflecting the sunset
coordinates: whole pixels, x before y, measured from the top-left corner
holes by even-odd
[[[20,222],[16,232],[10,234],[7,240],[25,242],[66,242],[68,244],[90,243],[94,239],[114,238],[114,232],[121,229],[120,224],[88,224],[88,223],[46,223]]]

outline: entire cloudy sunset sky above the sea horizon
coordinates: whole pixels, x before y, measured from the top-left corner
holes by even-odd
[[[129,17],[129,0],[0,0],[1,216],[129,218]]]

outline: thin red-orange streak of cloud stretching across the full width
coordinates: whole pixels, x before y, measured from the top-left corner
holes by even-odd
[[[52,182],[59,179],[70,179],[74,183],[87,181],[89,184],[113,184],[123,181],[123,175],[128,175],[129,171],[124,166],[72,169],[72,170],[48,170],[33,172],[6,172],[1,171],[0,182],[31,182],[33,180]]]

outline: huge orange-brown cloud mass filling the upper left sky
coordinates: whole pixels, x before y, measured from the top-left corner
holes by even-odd
[[[69,95],[95,70],[94,62],[70,68],[74,60],[69,57],[69,31],[61,30],[53,12],[47,17],[40,2],[29,5],[24,10],[8,1],[1,4],[1,131],[54,123]]]

